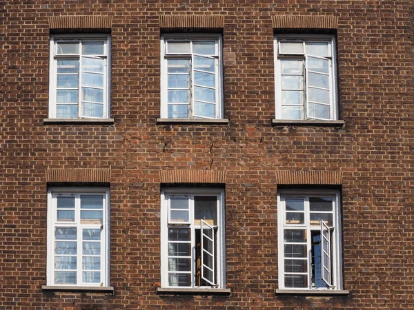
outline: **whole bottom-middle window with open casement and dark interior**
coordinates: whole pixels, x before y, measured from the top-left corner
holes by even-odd
[[[223,288],[224,192],[161,193],[161,286]]]

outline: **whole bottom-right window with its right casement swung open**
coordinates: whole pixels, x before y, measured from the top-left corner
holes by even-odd
[[[339,192],[278,194],[279,289],[342,289]]]

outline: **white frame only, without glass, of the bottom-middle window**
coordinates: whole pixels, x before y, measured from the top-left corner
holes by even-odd
[[[217,197],[217,225],[210,227],[215,228],[216,246],[215,246],[215,277],[217,283],[210,286],[198,286],[196,283],[196,261],[195,261],[195,230],[201,229],[200,225],[195,225],[193,220],[188,224],[168,223],[169,221],[169,198],[170,197],[189,197],[190,198],[190,219],[194,219],[194,196],[214,196]],[[161,287],[171,289],[223,289],[225,288],[225,249],[226,236],[224,227],[224,190],[219,188],[179,188],[168,187],[161,190]],[[205,223],[204,223],[205,224]],[[191,231],[191,285],[184,286],[170,286],[168,282],[168,227],[185,227],[190,228]],[[202,262],[201,262],[202,264]],[[202,275],[201,275],[202,276]],[[206,281],[207,282],[207,281]]]

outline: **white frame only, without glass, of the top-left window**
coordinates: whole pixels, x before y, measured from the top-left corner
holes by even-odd
[[[105,41],[104,52],[105,54],[99,56],[99,59],[103,59],[105,68],[103,72],[103,117],[95,116],[83,116],[81,115],[81,64],[80,54],[73,55],[58,55],[57,42],[59,41]],[[79,51],[80,53],[80,51]],[[50,64],[49,64],[49,118],[57,118],[57,60],[59,59],[79,59],[79,81],[78,81],[78,115],[76,118],[65,119],[77,119],[77,118],[110,118],[110,35],[109,34],[52,34],[50,36]]]

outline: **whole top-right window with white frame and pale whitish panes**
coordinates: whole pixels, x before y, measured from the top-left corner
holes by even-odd
[[[337,120],[335,38],[275,37],[276,118]]]

